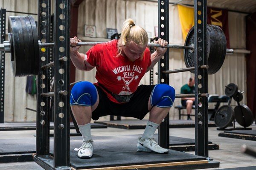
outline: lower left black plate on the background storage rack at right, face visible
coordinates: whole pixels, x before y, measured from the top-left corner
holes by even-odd
[[[226,128],[234,120],[234,111],[228,105],[221,106],[215,114],[214,122],[217,127]]]

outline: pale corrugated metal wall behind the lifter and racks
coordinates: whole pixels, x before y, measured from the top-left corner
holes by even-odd
[[[0,7],[13,11],[26,11],[37,13],[37,0],[0,0]],[[54,5],[52,5],[54,7]],[[183,44],[178,11],[175,6],[170,6],[170,40],[169,43]],[[9,15],[14,14],[7,14]],[[132,0],[84,0],[79,7],[78,33],[84,34],[84,24],[94,25],[97,29],[97,37],[106,37],[105,28],[117,28],[121,31],[122,22],[131,17],[135,23],[146,31],[154,34],[154,26],[157,26],[157,3]],[[36,17],[35,17],[36,18]],[[244,14],[229,12],[230,45],[231,48],[245,48],[245,19]],[[86,52],[88,47],[81,47],[80,52]],[[170,69],[185,67],[183,51],[170,49]],[[154,72],[157,71],[157,65]],[[76,80],[96,82],[96,70],[90,72],[76,71]],[[177,73],[170,75],[170,85],[177,93],[185,84],[190,73]],[[5,121],[35,121],[36,116],[25,108],[36,108],[36,97],[25,93],[26,77],[12,76],[10,68],[10,56],[6,55],[6,84],[5,84]],[[209,93],[224,94],[224,85],[235,82],[241,90],[246,90],[246,65],[244,54],[227,55],[221,70],[215,75],[209,75]],[[154,76],[157,83],[157,76]],[[149,73],[142,79],[141,84],[149,84]],[[243,102],[246,100],[244,99]],[[175,105],[180,105],[180,99],[175,100]],[[177,111],[170,111],[170,118],[177,119]],[[108,116],[101,119],[108,119]]]

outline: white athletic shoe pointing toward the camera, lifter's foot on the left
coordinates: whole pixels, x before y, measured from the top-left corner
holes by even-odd
[[[75,148],[74,150],[78,151],[77,155],[81,159],[90,159],[93,157],[93,144],[92,140],[84,141],[82,146]]]

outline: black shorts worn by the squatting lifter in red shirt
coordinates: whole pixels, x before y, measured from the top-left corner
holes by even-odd
[[[92,113],[92,119],[101,116],[114,115],[134,117],[142,120],[148,111],[148,99],[155,85],[140,85],[129,102],[118,104],[108,99],[104,91],[95,85],[99,94],[99,105]]]

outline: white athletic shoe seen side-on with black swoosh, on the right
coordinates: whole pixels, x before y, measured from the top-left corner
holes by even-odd
[[[157,142],[155,142],[154,138],[144,139],[142,140],[139,137],[139,141],[137,144],[138,152],[153,152],[153,153],[168,153],[169,150],[163,147],[160,147]]]

